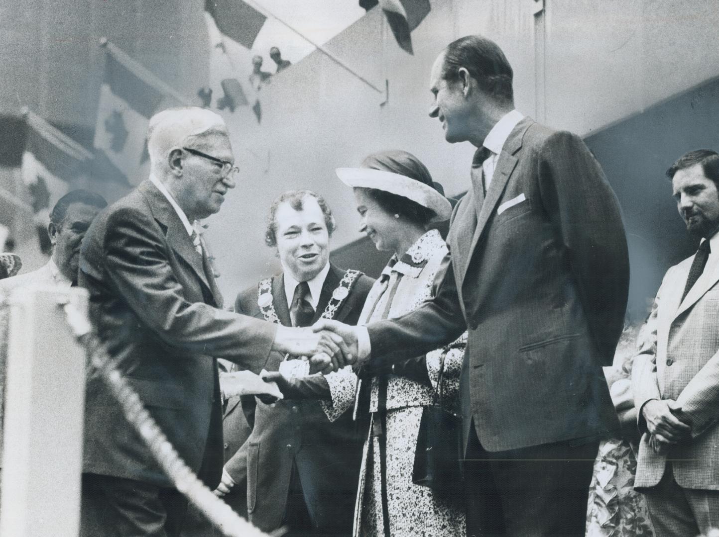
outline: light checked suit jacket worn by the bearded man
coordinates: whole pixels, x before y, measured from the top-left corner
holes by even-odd
[[[656,454],[649,447],[646,422],[638,454],[635,487],[659,483],[667,460],[685,488],[719,490],[719,256],[682,300],[694,256],[664,276],[639,336],[633,365],[636,408],[650,399],[674,399],[677,417],[692,426],[692,439]]]

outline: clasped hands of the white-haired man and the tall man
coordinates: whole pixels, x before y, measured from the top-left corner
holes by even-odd
[[[320,319],[311,327],[278,325],[273,350],[309,360],[310,374],[331,373],[358,364],[358,327]],[[363,357],[366,358],[366,357]]]

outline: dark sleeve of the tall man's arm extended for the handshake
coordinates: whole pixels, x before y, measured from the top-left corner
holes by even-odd
[[[457,284],[449,253],[435,279],[435,294],[418,309],[396,319],[367,326],[372,368],[382,368],[446,345],[467,329],[459,307]],[[391,361],[390,361],[391,357]]]

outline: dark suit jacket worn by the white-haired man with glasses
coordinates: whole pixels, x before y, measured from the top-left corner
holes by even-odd
[[[150,181],[93,221],[80,268],[117,367],[180,457],[194,472],[202,466],[200,477],[216,487],[223,457],[214,358],[259,371],[276,327],[215,307],[201,255]],[[83,471],[171,485],[97,375],[86,385]]]

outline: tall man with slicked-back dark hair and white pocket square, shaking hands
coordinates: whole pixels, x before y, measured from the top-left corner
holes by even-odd
[[[450,143],[477,146],[436,297],[367,328],[317,329],[342,333],[374,366],[468,330],[468,534],[583,536],[598,438],[618,427],[601,367],[623,327],[626,237],[585,144],[516,111],[512,78],[479,36],[452,42],[432,67],[429,115]]]

